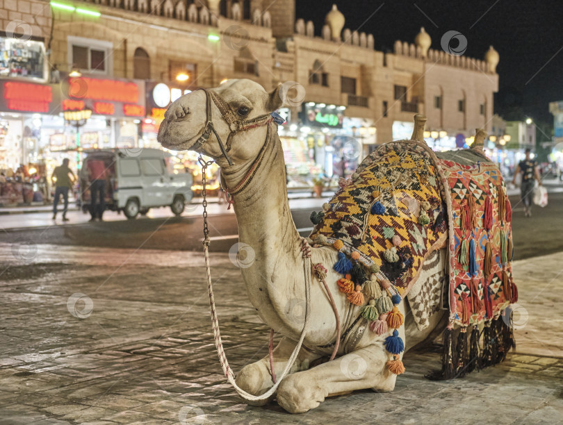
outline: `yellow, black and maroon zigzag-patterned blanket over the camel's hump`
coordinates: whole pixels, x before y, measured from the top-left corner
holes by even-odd
[[[360,263],[368,268],[379,266],[377,277],[406,294],[426,256],[447,238],[446,207],[428,150],[422,144],[402,141],[384,144],[371,153],[352,181],[325,204],[324,217],[310,238],[324,235],[327,244],[341,240],[341,252],[347,256],[358,252]],[[419,224],[423,209],[429,224]],[[398,260],[386,260],[384,254],[390,249]]]

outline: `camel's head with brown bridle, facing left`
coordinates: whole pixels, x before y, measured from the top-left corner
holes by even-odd
[[[282,103],[279,87],[268,93],[258,83],[246,79],[195,90],[168,107],[158,129],[158,142],[176,151],[204,153],[225,166],[228,162],[222,144],[233,163],[245,163],[256,157],[265,141],[269,114]],[[206,140],[205,135],[209,136]]]

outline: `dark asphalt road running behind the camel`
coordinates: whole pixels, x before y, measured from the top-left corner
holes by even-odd
[[[519,197],[510,197],[514,214],[514,247],[517,259],[563,251],[563,193],[550,193],[546,208],[535,207],[533,217],[526,218]],[[302,235],[311,230],[309,214],[320,210],[325,199],[292,199],[293,219]],[[53,224],[49,213],[0,216],[4,231],[0,241],[28,240],[34,244],[72,244],[92,247],[180,249],[199,251],[202,240],[202,207],[191,206],[182,217],[168,210],[155,209],[147,217],[124,219],[107,213],[106,222],[88,223],[88,216],[78,211],[70,214],[67,224]],[[226,252],[238,241],[236,217],[226,206],[209,206],[211,250]],[[79,220],[83,222],[76,224]]]

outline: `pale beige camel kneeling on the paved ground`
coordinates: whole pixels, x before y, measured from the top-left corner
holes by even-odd
[[[282,144],[276,124],[269,119],[270,113],[284,103],[283,90],[279,86],[268,93],[246,79],[197,90],[169,106],[158,131],[158,142],[165,148],[195,150],[213,158],[221,167],[222,184],[227,192],[234,193],[239,241],[250,246],[255,255],[250,267],[241,268],[248,297],[263,322],[283,337],[272,352],[276,376],[282,374],[300,339],[306,299],[303,242],[288,206]],[[422,141],[424,120],[416,123],[413,139]],[[338,261],[338,251],[332,246],[312,244],[311,263],[325,266],[325,282],[334,295],[344,333],[359,317],[361,306],[340,296],[338,281],[344,276],[332,267]],[[432,253],[434,259],[442,258],[443,274],[448,273],[447,261],[443,260],[446,246],[442,238]],[[417,277],[424,279],[423,264],[418,268]],[[334,349],[337,320],[323,285],[313,272],[309,278],[313,282],[309,331],[297,359],[275,394],[250,403],[263,405],[275,398],[288,412],[299,413],[337,394],[367,388],[392,391],[397,375],[386,367],[390,357],[384,347],[391,331],[380,335],[364,324],[363,333],[358,333],[359,323],[351,326],[350,332],[342,335],[336,358],[323,363]],[[368,299],[364,306],[367,303]],[[405,325],[397,329],[405,341],[405,351],[426,340],[444,317],[444,311],[437,310],[420,331],[409,314],[409,304],[401,302],[397,307],[406,318]],[[402,358],[405,351],[395,358]],[[274,385],[269,356],[243,367],[236,384],[250,394],[267,392]]]

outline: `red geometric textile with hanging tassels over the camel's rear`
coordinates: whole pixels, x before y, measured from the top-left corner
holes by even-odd
[[[475,151],[471,150],[457,151],[456,154],[475,158]],[[505,184],[498,167],[485,156],[471,165],[440,159],[439,167],[448,185],[449,196],[446,194],[446,198],[450,198],[447,202],[450,324],[466,327],[484,320],[489,322],[517,298],[511,265],[512,210]],[[472,202],[474,207],[468,220],[471,225],[464,226],[462,219],[469,213],[468,206]],[[487,208],[491,210],[488,228]],[[491,248],[491,266],[485,272],[487,243]],[[463,255],[464,249],[469,251],[467,256]],[[487,314],[489,300],[490,311]]]

